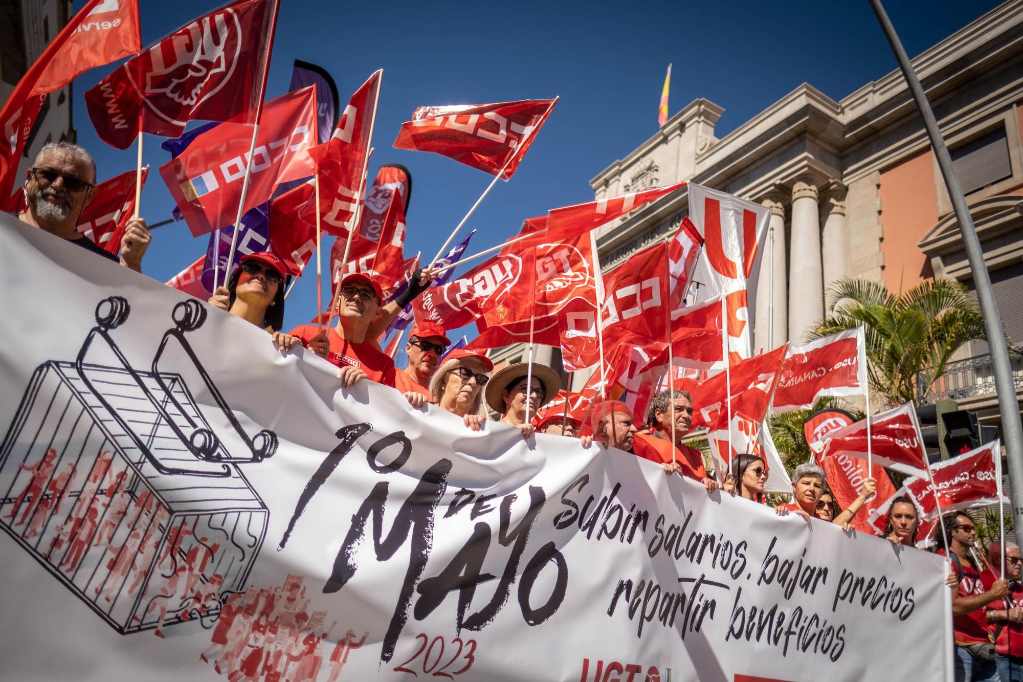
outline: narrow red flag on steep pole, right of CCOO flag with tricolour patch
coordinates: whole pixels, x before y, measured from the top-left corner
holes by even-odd
[[[369,133],[380,99],[382,73],[373,73],[355,91],[330,139],[309,150],[319,174],[321,228],[330,235],[348,236],[362,199],[362,169],[369,154]],[[314,221],[315,216],[306,219]]]

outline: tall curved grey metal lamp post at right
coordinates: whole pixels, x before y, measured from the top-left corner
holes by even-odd
[[[927,136],[931,139],[931,146],[935,157],[937,157],[938,167],[945,180],[945,187],[952,200],[952,209],[960,225],[960,235],[963,237],[963,246],[966,248],[966,255],[970,261],[970,269],[973,271],[977,299],[980,301],[980,311],[984,315],[987,345],[991,352],[994,387],[998,393],[998,412],[1002,416],[1002,435],[1005,438],[1006,460],[1009,465],[1013,517],[1016,520],[1016,527],[1023,528],[1023,424],[1020,423],[1016,387],[1013,385],[1013,373],[1009,365],[1009,349],[1006,347],[1006,337],[1002,331],[1002,317],[998,314],[997,305],[994,303],[994,294],[991,291],[991,278],[987,272],[987,264],[984,263],[984,252],[981,251],[980,240],[977,238],[973,218],[970,216],[966,198],[963,196],[963,187],[960,185],[959,177],[952,168],[951,157],[948,156],[948,148],[941,138],[938,122],[935,120],[934,112],[931,111],[931,105],[924,94],[924,88],[920,85],[920,81],[913,71],[909,57],[895,34],[895,28],[888,19],[885,8],[881,6],[881,0],[870,0],[870,2],[881,29],[885,32],[888,44],[891,45],[892,52],[895,53],[905,82],[913,92],[913,98],[917,102],[917,109],[920,110],[920,116],[924,119]]]

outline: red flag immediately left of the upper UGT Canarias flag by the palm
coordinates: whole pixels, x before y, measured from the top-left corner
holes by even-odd
[[[731,366],[730,378],[724,372],[702,382],[693,392],[693,428],[706,426],[711,430],[727,428],[728,382],[731,384],[731,416],[737,415],[759,424],[767,414],[774,381],[788,344],[770,352],[740,360]]]

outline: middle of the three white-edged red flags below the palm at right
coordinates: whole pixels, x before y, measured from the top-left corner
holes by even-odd
[[[810,447],[819,461],[842,454],[865,460],[866,443],[864,419],[829,433],[824,442],[810,443]],[[875,466],[880,464],[910,476],[927,476],[927,455],[913,402],[871,418],[871,445]]]

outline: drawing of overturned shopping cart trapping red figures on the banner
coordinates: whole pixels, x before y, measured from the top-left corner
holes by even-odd
[[[197,301],[175,307],[147,371],[109,335],[129,310],[104,299],[76,360],[36,369],[0,443],[0,526],[122,634],[215,615],[222,594],[244,590],[268,510],[237,464],[277,446],[272,432],[243,432],[185,339],[206,319]],[[85,361],[97,340],[117,363]],[[181,375],[159,370],[171,343],[244,457],[226,451]]]

